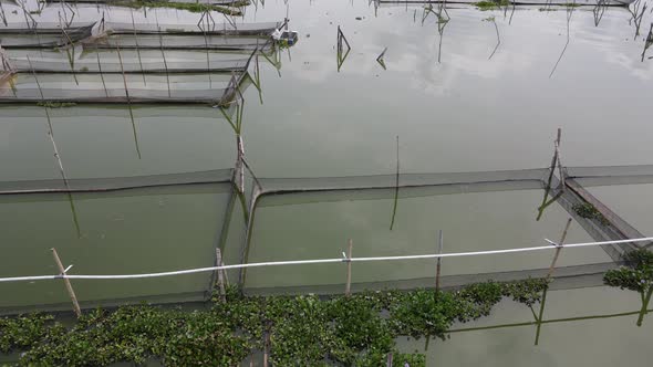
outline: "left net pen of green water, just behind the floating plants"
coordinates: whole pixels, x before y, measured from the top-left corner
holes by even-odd
[[[6,227],[3,243],[21,243],[34,222],[48,224],[0,258],[0,277],[55,274],[50,249],[55,245],[71,273],[148,273],[170,269],[215,266],[215,249],[225,239],[234,200],[228,170],[110,180],[131,188],[111,192],[41,192],[0,196]],[[107,180],[75,180],[81,189],[107,188]],[[115,185],[112,185],[115,184]],[[197,182],[201,185],[196,185]],[[41,182],[52,187],[50,182]],[[146,184],[155,185],[144,187]],[[162,187],[160,185],[174,185]],[[40,189],[40,188],[39,188]],[[38,206],[38,211],[30,210]],[[31,219],[24,220],[25,212]],[[13,216],[13,217],[11,217]],[[183,251],[172,249],[183,247]],[[152,261],[153,256],[156,261]],[[18,265],[20,264],[20,265]],[[213,291],[210,272],[173,277],[72,281],[84,308],[148,302],[154,304],[205,301]],[[27,286],[25,286],[27,285]],[[0,314],[70,311],[61,281],[0,283]]]

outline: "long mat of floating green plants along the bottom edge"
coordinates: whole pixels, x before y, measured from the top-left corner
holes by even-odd
[[[456,322],[487,316],[504,297],[526,305],[541,300],[546,280],[487,282],[458,292],[365,292],[332,298],[245,297],[227,290],[207,311],[154,306],[96,310],[66,328],[51,315],[0,318],[0,353],[21,352],[21,365],[234,366],[269,352],[276,366],[425,366],[421,354],[401,354],[395,338],[446,339]]]

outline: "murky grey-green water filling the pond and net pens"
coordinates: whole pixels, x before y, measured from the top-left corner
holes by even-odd
[[[41,17],[55,19],[58,10],[45,8]],[[80,6],[77,17],[99,19],[103,11],[107,21],[131,20],[127,9],[93,6]],[[279,70],[261,59],[261,93],[253,86],[243,92],[243,145],[256,175],[392,175],[397,136],[402,174],[541,168],[550,161],[558,127],[563,130],[564,165],[651,164],[653,130],[647,122],[653,62],[650,54],[642,61],[649,12],[636,38],[630,13],[621,8],[608,9],[599,24],[591,8],[568,13],[527,7],[511,13],[456,6],[448,12],[449,22],[444,28],[439,24],[438,31],[437,18],[433,13],[424,18],[419,6],[375,9],[364,0],[298,0],[287,7],[268,0],[265,7],[249,7],[243,21],[277,21],[288,14],[291,29],[300,34],[299,43],[280,55]],[[8,17],[23,21],[11,12]],[[149,10],[147,15],[138,10],[134,17],[136,22],[149,23],[155,18],[162,23],[193,23],[198,18],[165,9]],[[338,25],[352,45],[340,70],[334,49]],[[385,48],[383,69],[376,57]],[[61,56],[9,52],[25,53]],[[155,57],[153,52],[144,55]],[[188,55],[176,52],[170,57]],[[125,51],[125,56],[133,59],[135,53]],[[220,57],[241,59],[242,54]],[[165,85],[160,75],[132,78],[143,85]],[[69,75],[69,80],[48,80],[48,85],[68,87],[75,82]],[[236,160],[234,132],[215,108],[135,106],[133,119],[126,106],[76,106],[50,109],[50,114],[68,178],[226,169]],[[0,167],[1,181],[60,179],[43,108],[0,107]],[[590,191],[644,235],[651,234],[645,199],[650,185]],[[545,238],[558,240],[569,217],[553,205],[536,221],[542,195],[537,189],[400,196],[391,231],[393,195],[387,190],[373,197],[365,192],[263,197],[256,209],[247,260],[340,258],[350,238],[355,256],[429,253],[437,247],[438,230],[444,231],[445,252],[542,245]],[[56,273],[51,248],[58,249],[64,264],[74,264],[71,272],[77,274],[209,266],[221,234],[227,237],[226,262],[237,263],[245,223],[242,208],[239,203],[231,208],[230,199],[226,184],[76,193],[74,211],[65,195],[2,196],[0,277]],[[568,241],[591,238],[573,222]],[[595,248],[566,251],[560,264],[609,260]],[[547,268],[549,263],[550,252],[468,258],[445,261],[443,274]],[[433,274],[433,261],[356,264],[353,281],[391,282]],[[238,273],[229,277],[235,281]],[[339,290],[344,277],[342,264],[257,269],[247,272],[245,285]],[[80,300],[91,303],[179,302],[201,298],[210,274],[73,284]],[[68,302],[58,282],[4,283],[0,294],[0,310],[65,308]],[[516,307],[505,302],[489,318],[464,327],[532,319],[528,310]],[[547,307],[546,318],[553,319],[636,311],[639,305],[628,292],[595,287],[551,292]],[[454,333],[450,340],[431,342],[427,364],[645,365],[653,357],[645,344],[651,326],[644,322],[638,328],[634,318],[547,324],[537,347],[533,326]],[[424,352],[424,340],[401,344],[405,350]]]

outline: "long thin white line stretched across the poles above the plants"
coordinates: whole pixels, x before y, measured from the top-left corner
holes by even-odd
[[[551,245],[535,247],[535,248],[521,248],[521,249],[504,249],[504,250],[489,250],[489,251],[476,251],[476,252],[457,252],[457,253],[440,253],[440,254],[423,254],[423,255],[404,255],[404,256],[376,256],[376,258],[338,258],[338,259],[318,259],[318,260],[294,260],[294,261],[273,261],[273,262],[257,262],[249,264],[235,264],[235,265],[222,265],[222,266],[209,266],[199,269],[188,269],[162,273],[147,273],[147,274],[124,274],[124,275],[38,275],[38,276],[17,276],[17,277],[0,277],[2,282],[23,282],[23,281],[43,281],[43,280],[56,280],[56,279],[71,279],[71,280],[120,280],[120,279],[144,279],[144,277],[160,277],[172,275],[184,275],[195,274],[204,272],[213,272],[216,270],[231,270],[231,269],[245,269],[245,268],[261,268],[261,266],[282,266],[282,265],[305,265],[305,264],[325,264],[325,263],[339,263],[339,262],[369,262],[369,261],[401,261],[401,260],[419,260],[419,259],[438,259],[438,258],[462,258],[462,256],[477,256],[477,255],[493,255],[504,253],[518,253],[518,252],[532,252],[554,249],[573,249],[573,248],[587,248],[603,244],[620,244],[620,243],[633,243],[633,242],[645,242],[653,241],[653,237],[632,239],[632,240],[616,240],[616,241],[602,241],[602,242],[584,242],[584,243],[570,243],[558,245],[558,243],[545,239]]]

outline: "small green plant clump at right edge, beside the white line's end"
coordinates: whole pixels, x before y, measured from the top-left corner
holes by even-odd
[[[631,251],[624,255],[625,266],[610,270],[603,276],[603,283],[640,293],[642,308],[638,326],[642,326],[653,295],[653,253],[646,249]]]

